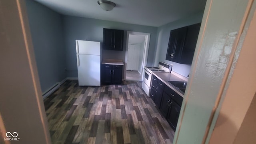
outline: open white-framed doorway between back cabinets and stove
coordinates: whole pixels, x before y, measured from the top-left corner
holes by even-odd
[[[143,68],[148,59],[150,34],[127,32],[125,54],[125,80],[142,80]]]

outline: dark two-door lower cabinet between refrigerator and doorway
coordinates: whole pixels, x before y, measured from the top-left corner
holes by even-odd
[[[102,84],[121,84],[122,83],[122,65],[102,64],[101,82]]]

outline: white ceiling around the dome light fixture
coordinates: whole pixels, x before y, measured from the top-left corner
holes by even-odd
[[[36,1],[64,15],[156,27],[202,12],[206,4],[206,0],[110,0],[116,7],[106,12],[98,0]]]

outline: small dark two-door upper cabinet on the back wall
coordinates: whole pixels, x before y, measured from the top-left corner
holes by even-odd
[[[123,50],[124,31],[103,28],[103,49]]]

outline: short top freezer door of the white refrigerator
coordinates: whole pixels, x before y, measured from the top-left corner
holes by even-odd
[[[100,55],[100,42],[76,40],[76,54]]]

